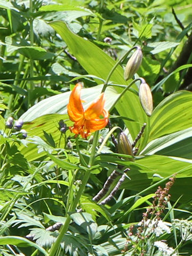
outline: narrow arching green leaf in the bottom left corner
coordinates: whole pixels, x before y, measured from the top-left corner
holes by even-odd
[[[36,243],[33,243],[33,242],[29,241],[25,237],[20,237],[20,236],[0,237],[0,244],[1,245],[11,244],[11,245],[18,245],[18,246],[21,246],[21,247],[31,246],[31,247],[34,247],[37,250],[39,250],[39,252],[42,252],[44,255],[48,256],[48,253],[41,246],[37,245]]]

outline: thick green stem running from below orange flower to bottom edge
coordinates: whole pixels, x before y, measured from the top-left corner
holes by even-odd
[[[91,156],[90,156],[90,161],[89,161],[89,166],[90,167],[92,166],[93,161],[94,161],[95,150],[96,150],[96,146],[97,146],[97,142],[98,142],[98,135],[99,135],[99,131],[96,131],[94,133],[93,146],[92,146]],[[85,189],[87,181],[89,180],[90,173],[91,173],[91,168],[88,171],[86,171],[86,173],[84,175],[84,178],[82,180],[82,184],[79,187],[77,195],[76,195],[76,197],[74,199],[74,202],[73,202],[73,204],[72,204],[72,206],[70,208],[70,212],[74,212],[75,211],[75,209],[77,207],[77,204],[79,203],[79,199],[81,198],[81,196],[83,194],[83,191]],[[58,250],[58,248],[60,246],[60,243],[62,241],[62,238],[66,234],[66,232],[67,232],[67,230],[69,228],[70,221],[71,221],[71,218],[70,218],[70,215],[68,214],[67,215],[67,219],[66,219],[64,225],[60,228],[60,234],[59,234],[57,240],[55,241],[55,243],[51,247],[49,256],[54,256],[55,253],[57,252],[57,250]]]

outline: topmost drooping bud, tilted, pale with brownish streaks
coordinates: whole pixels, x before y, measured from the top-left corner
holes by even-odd
[[[137,50],[133,53],[131,58],[127,61],[125,70],[124,70],[124,79],[125,81],[133,77],[133,75],[138,71],[142,62],[142,51],[141,47],[137,46]]]

